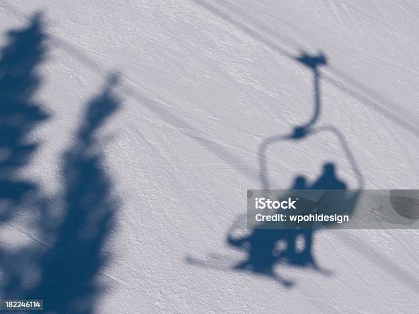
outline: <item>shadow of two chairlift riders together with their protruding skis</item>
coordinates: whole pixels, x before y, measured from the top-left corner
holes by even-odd
[[[305,176],[296,176],[290,190],[296,189],[347,190],[347,185],[336,174],[335,164],[327,162],[323,165],[321,174],[312,184]],[[351,195],[351,191],[348,191],[348,194]],[[356,195],[353,196],[352,194],[352,197],[356,198]],[[300,227],[247,230],[246,215],[240,215],[229,228],[226,242],[234,250],[246,252],[246,258],[243,261],[232,263],[229,257],[212,253],[208,254],[205,259],[189,255],[186,257],[186,262],[190,265],[214,270],[266,276],[285,288],[293,287],[295,282],[279,273],[280,265],[307,268],[326,276],[331,275],[330,270],[319,265],[314,254],[316,229],[312,228],[311,225]]]

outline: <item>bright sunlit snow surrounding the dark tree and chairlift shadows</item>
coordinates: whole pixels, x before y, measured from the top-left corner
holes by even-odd
[[[1,0],[0,15],[7,17],[2,31],[14,29],[10,21],[18,20],[20,27],[31,12],[45,10],[43,31],[50,36],[50,49],[63,58],[52,60],[49,72],[75,64],[96,81],[114,70],[121,77],[116,89],[123,108],[112,120],[118,132],[107,144],[105,170],[127,197],[109,244],[112,263],[98,271],[110,281],[101,296],[101,313],[134,308],[153,313],[413,313],[418,308],[417,231],[319,231],[314,254],[333,274],[279,265],[280,276],[296,281],[292,289],[264,276],[185,262],[188,255],[207,252],[242,261],[225,237],[233,217],[245,211],[246,189],[262,187],[261,164],[270,187],[286,188],[288,179],[301,172],[315,181],[323,155],[333,157],[351,186],[357,184],[353,174],[358,168],[370,188],[417,185],[419,68],[414,52],[419,40],[409,24],[418,16],[416,2],[386,8],[335,0],[125,1],[126,8],[120,5],[116,11],[112,1],[75,1],[68,16],[64,0],[36,2]],[[101,20],[104,13],[109,21]],[[115,24],[118,16],[134,23],[138,38]],[[88,29],[78,26],[86,21]],[[372,29],[377,34],[371,35]],[[99,30],[104,34],[95,33]],[[369,42],[374,37],[376,42]],[[395,47],[401,51],[398,60]],[[158,51],[154,62],[147,49]],[[323,134],[323,142],[316,135],[306,139],[302,154],[301,142],[276,140],[262,156],[258,150],[264,141],[289,135],[301,124],[299,118],[302,123],[303,117],[309,120],[314,110],[312,73],[295,57],[302,50],[320,49],[329,64],[320,72],[322,108],[315,127],[335,128],[344,135],[348,151],[337,146],[339,139]],[[68,95],[81,97],[72,79],[58,80],[68,87]],[[86,93],[95,92],[88,79],[82,82]],[[42,95],[52,112],[60,100],[55,83],[47,81],[51,87]],[[77,108],[69,113],[79,115]],[[114,134],[111,127],[104,127],[105,133]],[[380,128],[385,133],[378,133]],[[43,139],[53,142],[54,136]],[[301,155],[287,158],[284,149]],[[45,159],[49,153],[40,148],[38,154]],[[156,199],[160,205],[153,203]],[[160,217],[170,223],[158,221]],[[16,230],[30,243],[48,245],[22,226]],[[0,239],[13,241],[7,235]],[[0,298],[1,291],[0,284]]]

